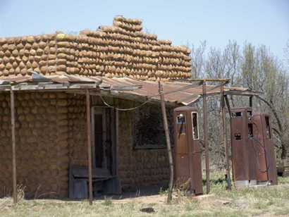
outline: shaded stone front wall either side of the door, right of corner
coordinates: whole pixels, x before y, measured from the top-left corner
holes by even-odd
[[[128,100],[108,98],[106,101],[123,109],[135,106],[133,101]],[[98,97],[92,97],[91,104],[103,105]],[[169,178],[166,149],[134,149],[132,118],[132,112],[119,111],[118,174],[123,190],[164,185]],[[87,166],[85,96],[68,95],[68,125],[70,161]]]

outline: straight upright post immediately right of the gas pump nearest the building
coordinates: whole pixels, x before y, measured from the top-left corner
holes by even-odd
[[[206,161],[206,190],[207,194],[210,192],[210,172],[209,172],[209,144],[208,144],[208,119],[207,119],[207,84],[203,82],[203,128],[204,128],[204,148],[205,148],[205,161]]]

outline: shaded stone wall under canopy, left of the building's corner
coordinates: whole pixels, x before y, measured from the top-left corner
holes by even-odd
[[[16,92],[18,185],[26,197],[68,193],[68,109],[66,94]],[[0,94],[0,196],[12,188],[10,95]]]

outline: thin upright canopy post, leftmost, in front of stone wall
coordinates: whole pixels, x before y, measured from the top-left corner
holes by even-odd
[[[17,203],[17,179],[16,179],[16,137],[15,137],[15,105],[14,92],[10,90],[11,101],[11,137],[12,137],[12,168],[13,168],[13,203]]]

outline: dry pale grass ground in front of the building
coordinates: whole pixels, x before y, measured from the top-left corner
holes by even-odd
[[[13,205],[12,199],[0,199],[0,216],[289,216],[289,178],[280,178],[278,186],[226,191],[220,175],[214,175],[211,194],[183,197],[174,194],[166,204],[166,194],[135,199],[104,199],[65,202],[24,200]],[[221,181],[220,181],[221,180]],[[154,212],[140,209],[152,207]]]

